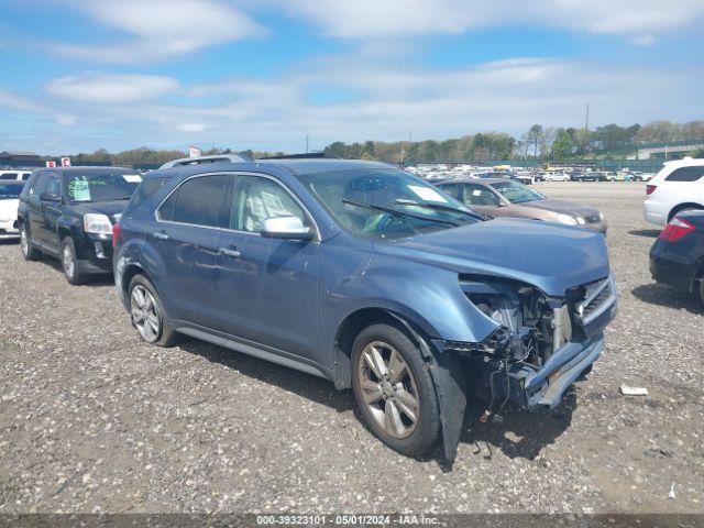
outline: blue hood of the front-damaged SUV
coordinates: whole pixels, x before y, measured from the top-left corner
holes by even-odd
[[[552,297],[609,274],[604,237],[538,220],[494,219],[394,242],[377,241],[374,249],[458,273],[521,280]]]

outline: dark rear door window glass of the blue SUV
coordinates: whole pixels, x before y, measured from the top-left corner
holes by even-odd
[[[184,183],[178,188],[172,221],[209,228],[220,227],[222,201],[229,180],[230,176],[213,175],[199,176]]]

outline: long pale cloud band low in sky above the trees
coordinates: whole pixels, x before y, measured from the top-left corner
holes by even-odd
[[[129,76],[121,76],[124,78]],[[702,118],[704,92],[697,87],[703,78],[701,69],[536,58],[458,70],[410,70],[340,56],[309,62],[305,73],[271,81],[241,77],[177,88],[173,95],[178,105],[153,97],[112,105],[108,102],[124,101],[134,94],[121,95],[125,84],[138,87],[142,95],[150,90],[148,85],[120,82],[119,89],[100,89],[96,97],[96,84],[81,77],[50,85],[69,87],[68,94],[50,94],[55,97],[53,106],[70,111],[80,128],[64,136],[52,133],[47,125],[45,135],[52,142],[57,141],[53,136],[62,138],[64,152],[100,146],[117,151],[142,144],[184,147],[194,142],[296,152],[305,147],[306,134],[311,147],[319,148],[338,140],[399,141],[409,132],[417,140],[444,140],[488,130],[520,135],[534,123],[581,127],[587,102],[592,127],[653,119],[689,121]],[[79,88],[81,85],[87,88]],[[317,102],[310,98],[314,90],[345,91],[350,97]],[[68,103],[64,96],[72,98]],[[43,140],[37,135],[33,141],[15,147],[36,150],[37,141]]]

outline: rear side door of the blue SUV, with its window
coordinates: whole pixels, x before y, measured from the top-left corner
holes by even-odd
[[[211,327],[217,318],[218,235],[231,179],[227,174],[186,179],[150,226],[151,245],[164,266],[157,288],[173,319]]]

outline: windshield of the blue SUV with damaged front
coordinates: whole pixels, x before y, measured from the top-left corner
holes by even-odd
[[[481,221],[462,204],[398,169],[298,175],[311,195],[352,234],[400,239]]]

